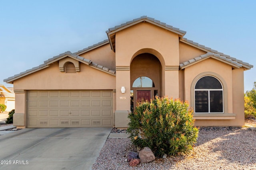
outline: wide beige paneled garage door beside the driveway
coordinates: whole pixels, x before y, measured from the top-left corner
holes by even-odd
[[[112,90],[30,90],[27,127],[112,127]]]

